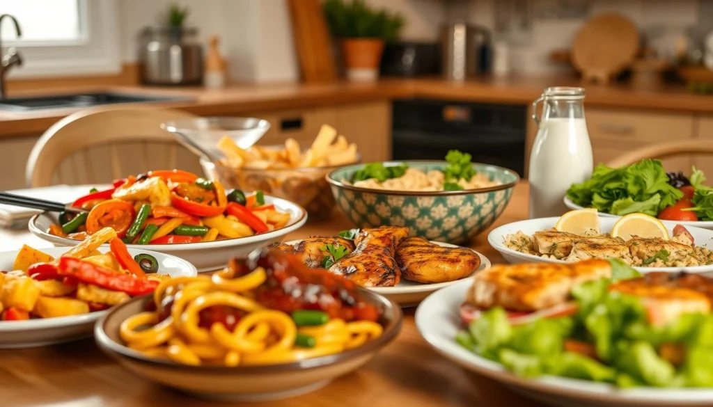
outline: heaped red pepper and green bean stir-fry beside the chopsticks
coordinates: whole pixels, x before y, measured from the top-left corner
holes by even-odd
[[[48,228],[51,235],[84,239],[110,227],[125,244],[212,242],[270,232],[291,219],[262,191],[226,193],[219,181],[183,170],[116,180],[111,188],[91,192],[74,205],[89,212],[63,212],[60,223]]]

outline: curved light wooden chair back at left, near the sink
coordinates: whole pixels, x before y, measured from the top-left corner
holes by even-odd
[[[68,115],[38,140],[27,161],[30,187],[97,184],[152,169],[202,173],[198,157],[160,124],[195,118],[180,110],[101,108]]]

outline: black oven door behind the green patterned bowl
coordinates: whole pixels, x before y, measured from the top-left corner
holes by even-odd
[[[499,165],[525,174],[524,135],[478,133],[444,134],[419,130],[394,129],[394,160],[443,160],[448,150],[473,156],[473,163]]]

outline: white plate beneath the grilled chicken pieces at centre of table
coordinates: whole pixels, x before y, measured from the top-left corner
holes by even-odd
[[[289,242],[285,242],[286,244],[297,244],[301,242],[301,240],[291,240]],[[431,242],[438,244],[438,246],[443,246],[443,247],[462,247],[462,246],[456,246],[455,244],[449,244],[449,243],[443,243],[443,242]],[[464,279],[470,279],[473,277],[474,274],[477,272],[482,272],[485,269],[489,269],[491,267],[491,261],[488,259],[488,257],[483,256],[483,254],[476,252],[475,250],[469,248],[469,247],[463,247],[463,249],[468,249],[472,250],[475,254],[478,254],[478,257],[481,258],[481,265],[473,271],[468,277],[463,277],[462,279],[458,280],[453,280],[452,282],[443,282],[443,283],[435,283],[435,284],[423,284],[419,282],[411,282],[409,280],[401,278],[401,282],[399,284],[396,284],[394,287],[367,287],[367,289],[370,289],[373,292],[376,292],[377,294],[381,294],[384,297],[390,299],[393,302],[396,302],[396,304],[399,304],[401,306],[416,306],[421,302],[424,298],[428,297],[429,294],[432,292],[437,291],[438,289],[441,289],[443,287],[448,287],[451,284],[456,284],[456,282],[462,281]]]

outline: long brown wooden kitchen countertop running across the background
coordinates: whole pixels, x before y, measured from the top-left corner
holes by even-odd
[[[482,103],[530,105],[548,86],[582,86],[568,76],[546,78],[482,78],[464,83],[441,79],[384,79],[376,83],[330,83],[303,85],[234,85],[220,90],[204,88],[149,88],[140,86],[43,88],[38,91],[11,92],[11,98],[56,95],[89,91],[182,96],[184,101],[142,103],[165,108],[181,108],[198,115],[237,115],[241,113],[304,108],[319,105],[358,103],[399,98],[435,98]],[[687,113],[712,113],[713,96],[694,95],[684,88],[634,88],[627,85],[586,85],[588,106],[640,108]],[[38,112],[0,110],[0,138],[38,135],[57,120],[79,109],[51,109]]]

